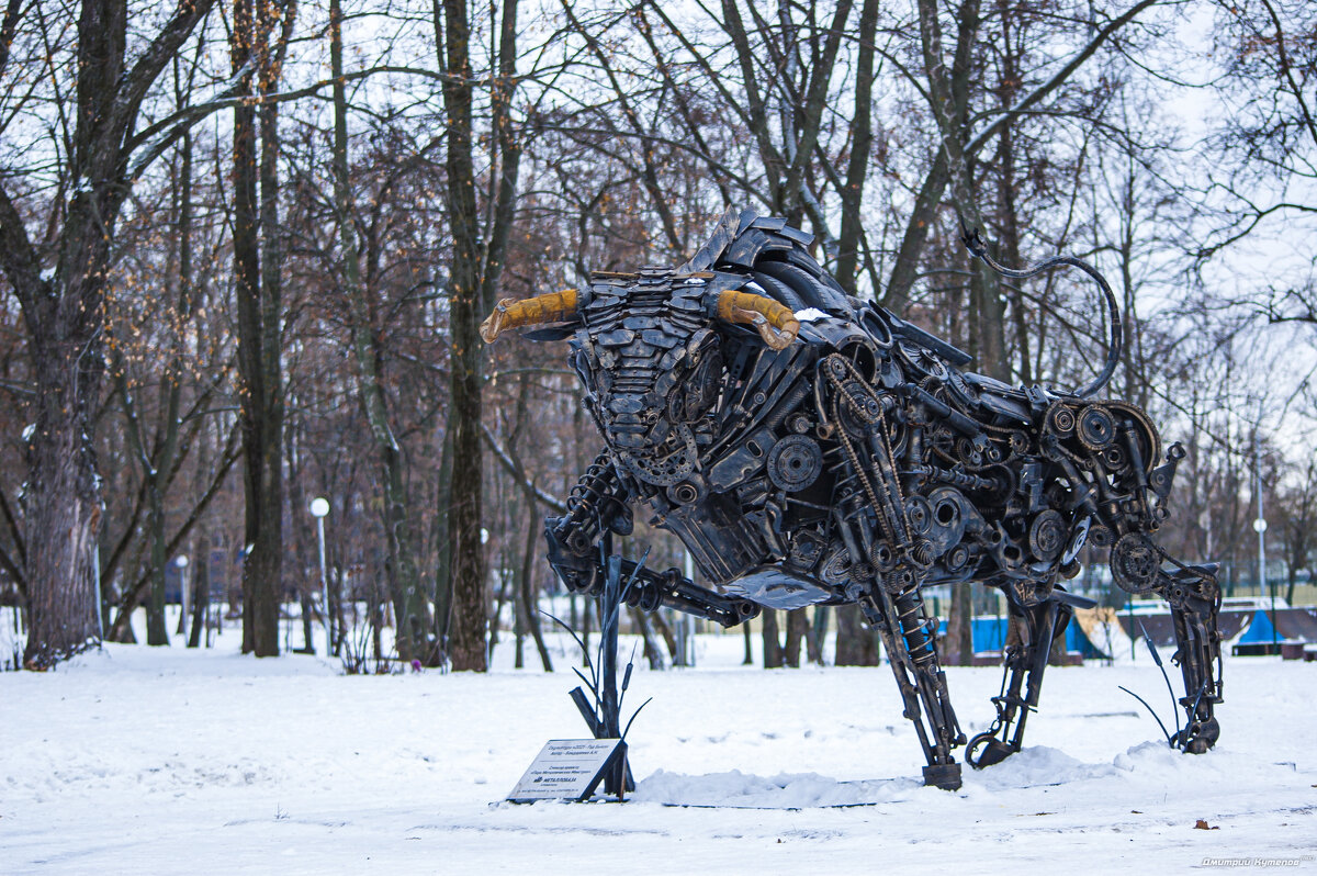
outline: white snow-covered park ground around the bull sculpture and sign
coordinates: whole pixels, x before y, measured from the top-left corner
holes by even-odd
[[[740,636],[701,636],[698,669],[637,665],[627,711],[653,702],[631,731],[632,800],[525,806],[499,801],[544,742],[586,735],[562,653],[553,674],[511,671],[500,647],[487,676],[362,677],[242,657],[237,638],[0,673],[0,872],[1317,867],[1313,663],[1227,660],[1201,757],[1155,742],[1117,689],[1167,717],[1146,655],[1052,669],[1026,751],[948,793],[917,780],[886,667],[745,669]],[[1000,671],[948,676],[965,730],[984,728]]]

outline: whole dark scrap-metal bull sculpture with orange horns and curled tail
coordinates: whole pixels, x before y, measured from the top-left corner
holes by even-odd
[[[499,303],[486,341],[518,327],[572,339],[570,360],[606,447],[549,518],[564,585],[598,594],[599,549],[632,530],[633,503],[686,545],[707,586],[623,561],[627,601],[732,626],[761,607],[859,605],[882,638],[927,756],[925,781],[959,788],[965,744],[938,664],[938,620],[921,588],[977,581],[1013,622],[997,718],[969,740],[975,767],[1019,751],[1054,638],[1090,601],[1059,581],[1080,548],[1110,548],[1115,582],[1171,606],[1191,752],[1220,728],[1216,566],[1185,566],[1152,540],[1179,444],[1162,461],[1135,406],[1093,400],[1119,356],[1112,312],[1106,368],[1075,393],[1018,389],[963,371],[971,358],[872,303],[847,296],[780,219],[728,211],[676,270],[595,273],[590,285]],[[1169,569],[1163,568],[1169,564]]]

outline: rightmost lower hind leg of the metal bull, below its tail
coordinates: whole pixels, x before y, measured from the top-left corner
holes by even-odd
[[[1180,705],[1187,723],[1175,744],[1195,755],[1204,753],[1221,735],[1221,725],[1213,714],[1213,707],[1221,702],[1221,632],[1217,630],[1221,588],[1216,570],[1216,564],[1159,570],[1152,588],[1171,605],[1177,645],[1171,660],[1179,664],[1184,676]]]

